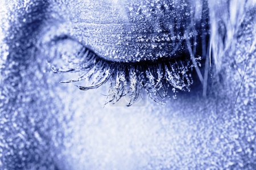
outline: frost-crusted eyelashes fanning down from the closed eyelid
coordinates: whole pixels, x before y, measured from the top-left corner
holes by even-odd
[[[189,91],[193,83],[191,59],[183,61],[159,61],[152,63],[117,63],[106,61],[98,57],[88,48],[82,48],[76,56],[61,56],[68,67],[56,68],[55,73],[79,72],[80,76],[75,79],[65,80],[62,83],[80,82],[84,86],[77,86],[86,91],[98,88],[109,83],[106,103],[116,103],[123,96],[129,96],[127,106],[135,103],[144,90],[146,94],[163,104],[163,99],[170,97],[168,89],[172,88],[174,97],[176,91]]]

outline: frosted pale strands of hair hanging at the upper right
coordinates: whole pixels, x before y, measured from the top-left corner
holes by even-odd
[[[221,70],[226,53],[234,52],[241,25],[248,17],[249,11],[255,7],[255,4],[256,1],[254,0],[208,1],[210,20],[209,59],[210,63],[213,60],[216,71]]]

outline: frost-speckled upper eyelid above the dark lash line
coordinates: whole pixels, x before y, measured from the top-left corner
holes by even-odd
[[[182,55],[185,32],[193,37],[205,29],[200,20],[207,14],[205,8],[202,11],[205,4],[187,0],[70,1],[68,6],[72,8],[65,18],[73,25],[72,36],[99,56],[122,62]]]

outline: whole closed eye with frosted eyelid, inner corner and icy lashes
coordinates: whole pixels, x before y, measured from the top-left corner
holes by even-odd
[[[144,14],[143,8],[136,11],[137,4],[127,1],[127,6],[134,6],[127,12],[127,23],[115,18],[119,17],[115,13],[111,18],[101,11],[97,12],[101,18],[95,19],[93,9],[86,10],[91,17],[80,20],[80,13],[73,11],[76,22],[71,22],[71,32],[65,32],[72,38],[64,35],[51,40],[53,53],[48,58],[53,72],[78,73],[63,83],[80,82],[77,87],[84,91],[105,84],[111,103],[130,96],[127,105],[131,105],[144,91],[163,104],[166,97],[176,97],[177,91],[190,91],[192,72],[198,72],[207,50],[207,3],[202,2],[199,10],[193,10],[196,6],[189,1],[155,3],[159,8],[151,5],[142,6],[149,9]]]

